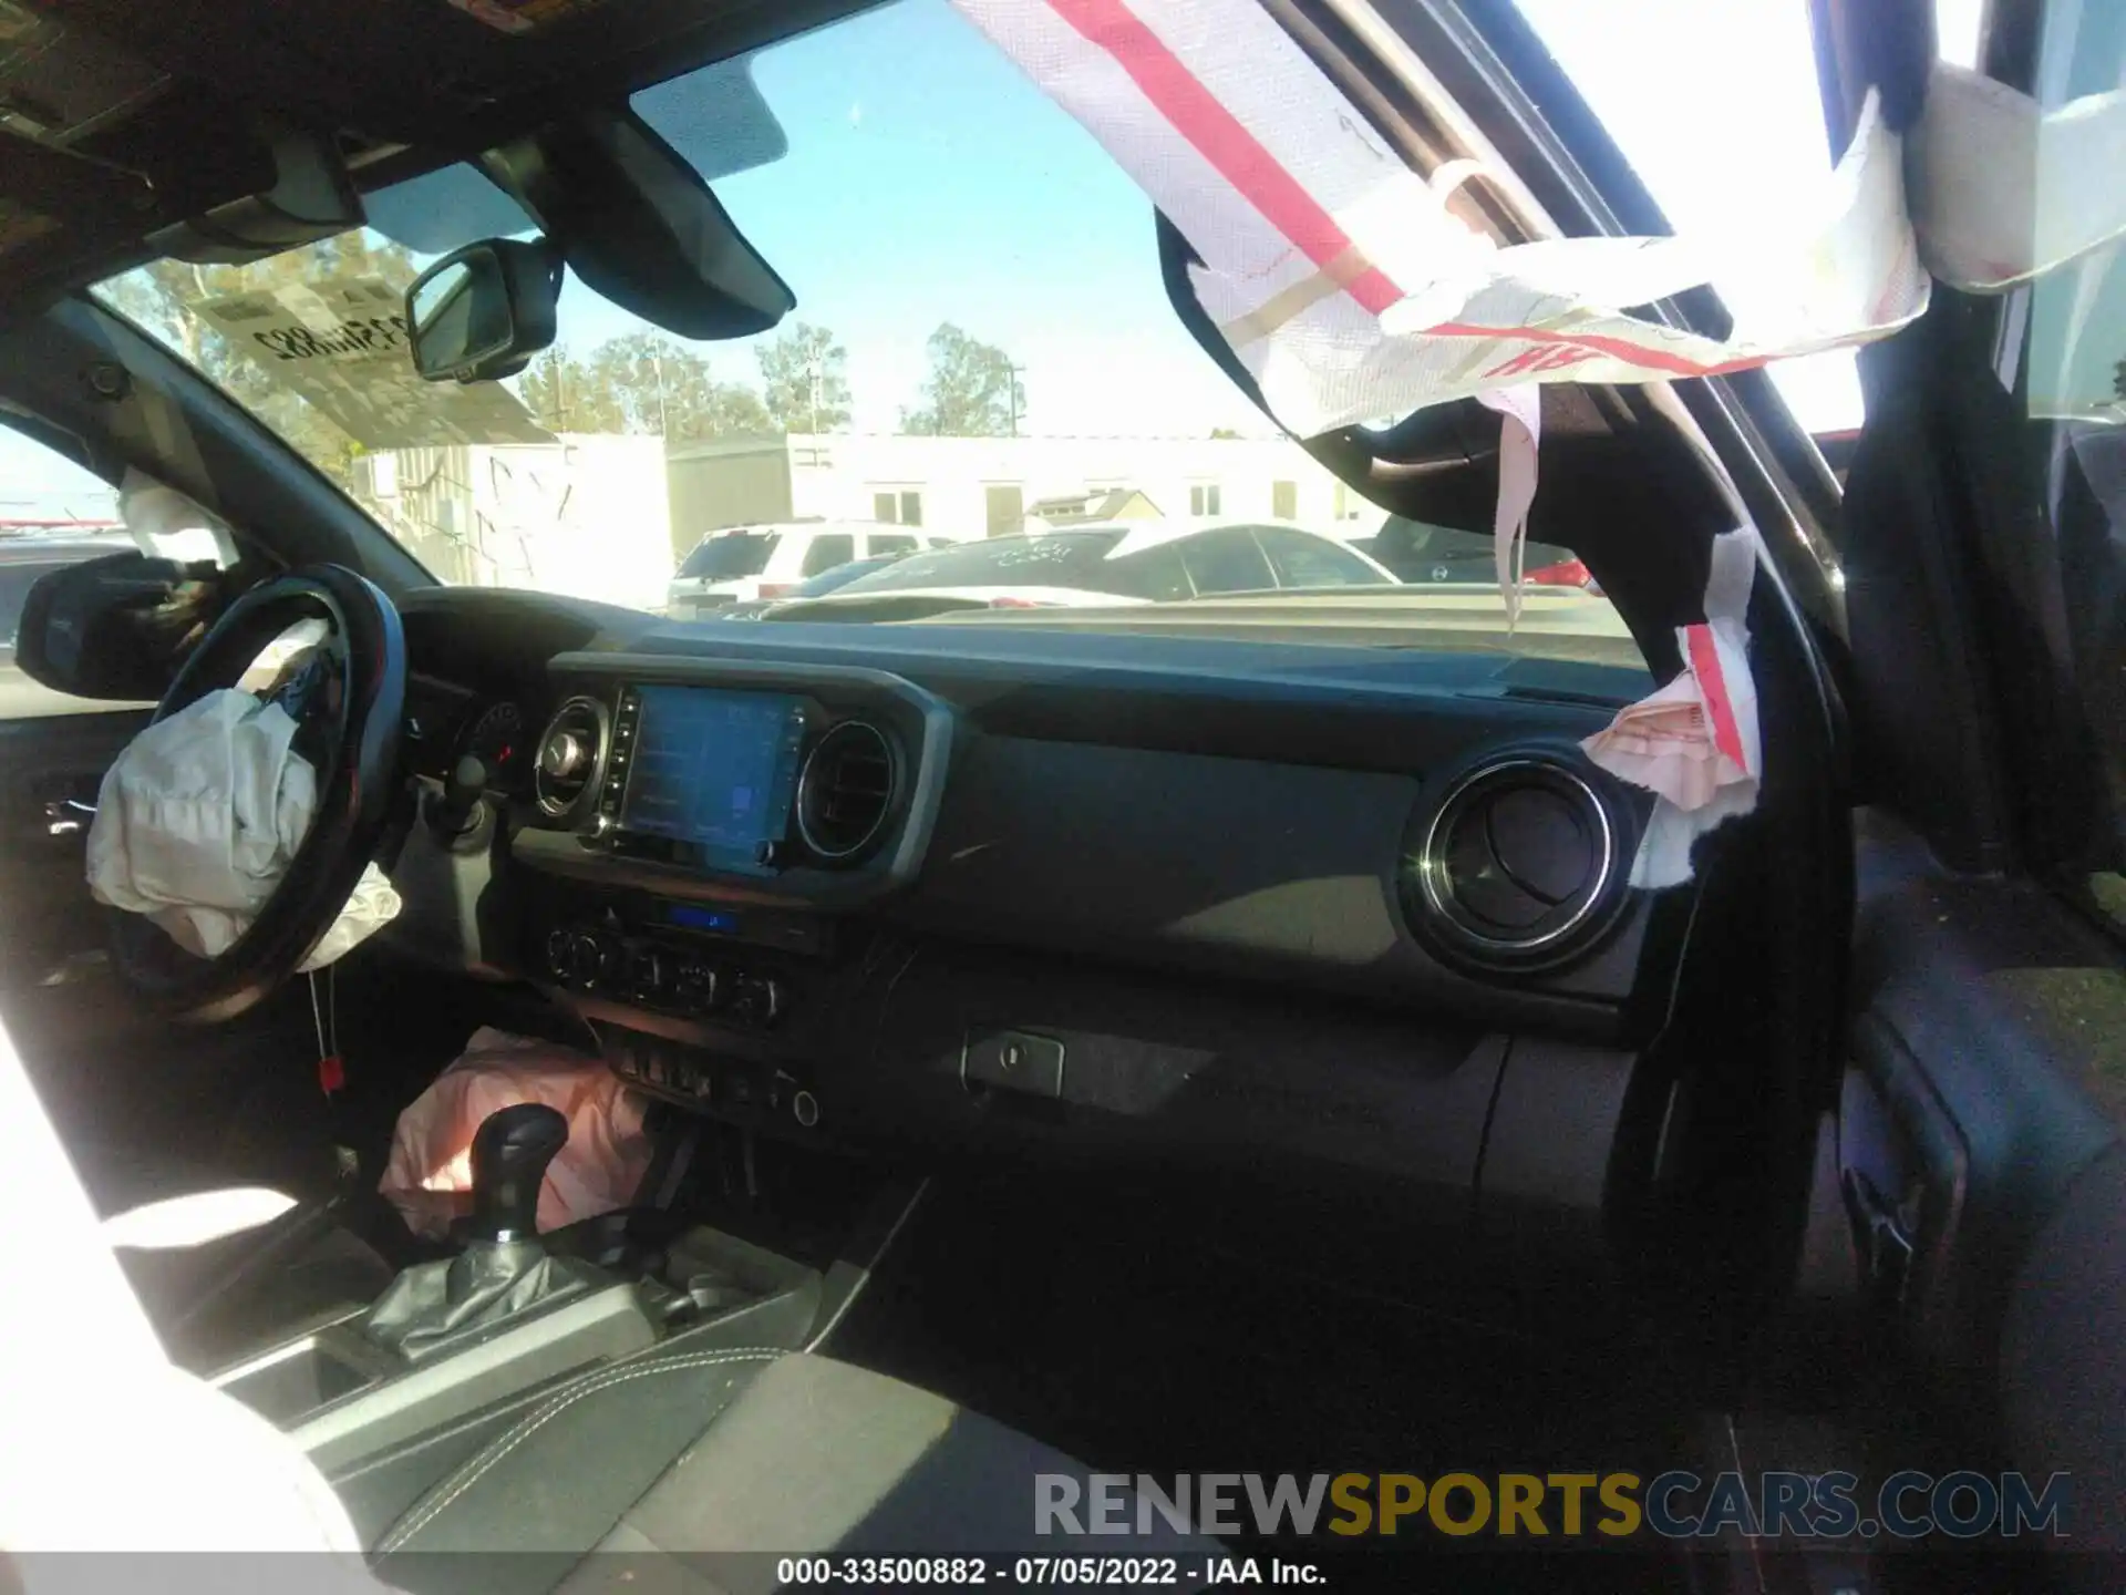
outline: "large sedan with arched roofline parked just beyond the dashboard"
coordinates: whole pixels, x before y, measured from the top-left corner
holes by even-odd
[[[819,600],[827,612],[1157,604],[1218,593],[1395,587],[1395,574],[1348,542],[1299,525],[1129,521],[984,538],[897,559]],[[778,604],[767,619],[814,619]]]

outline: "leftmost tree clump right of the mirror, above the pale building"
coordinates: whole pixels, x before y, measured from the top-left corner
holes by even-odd
[[[706,355],[657,332],[608,338],[587,357],[549,349],[525,368],[517,396],[549,432],[682,442],[774,432],[759,393],[719,383]]]

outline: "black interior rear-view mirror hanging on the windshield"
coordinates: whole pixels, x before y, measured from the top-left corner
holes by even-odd
[[[406,289],[412,366],[432,383],[514,376],[553,342],[561,262],[546,242],[466,245]]]

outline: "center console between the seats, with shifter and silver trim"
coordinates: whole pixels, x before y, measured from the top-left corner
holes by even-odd
[[[729,1157],[691,1134],[653,1170],[659,1191],[646,1187],[646,1206],[540,1236],[538,1191],[566,1134],[561,1114],[538,1104],[489,1116],[455,1250],[208,1376],[308,1453],[366,1540],[597,1370],[816,1344],[912,1199],[863,1170],[816,1178],[791,1168],[782,1174],[804,1199],[778,1214],[750,1144]],[[727,1163],[744,1170],[736,1191]]]

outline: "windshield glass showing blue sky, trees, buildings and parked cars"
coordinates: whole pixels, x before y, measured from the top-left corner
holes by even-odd
[[[1273,593],[1305,619],[1337,589],[1410,585],[1410,647],[1546,653],[1567,632],[1573,657],[1607,638],[1639,664],[1590,585],[1554,587],[1507,627],[1488,508],[1454,559],[1407,536],[1378,544],[1384,510],[1184,332],[1144,194],[944,0],[867,11],[634,104],[789,281],[782,325],[689,342],[570,274],[557,342],[521,374],[419,381],[408,283],[463,242],[529,232],[470,166],[366,196],[364,230],[251,266],[155,262],[98,293],[444,583],[693,621],[714,612],[708,585],[776,595],[891,551],[870,530],[884,527],[927,553],[836,598]],[[806,557],[797,534],[761,530],[804,523],[865,532],[799,538],[825,544]],[[1157,534],[1129,530],[1125,547],[1112,527]]]

